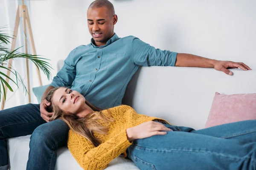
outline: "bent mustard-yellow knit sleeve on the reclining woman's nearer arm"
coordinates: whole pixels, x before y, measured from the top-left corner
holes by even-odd
[[[126,130],[122,130],[113,138],[95,147],[83,136],[69,131],[67,146],[84,170],[102,170],[131,145],[126,136]]]

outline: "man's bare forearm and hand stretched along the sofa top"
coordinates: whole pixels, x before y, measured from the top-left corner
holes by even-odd
[[[202,68],[214,68],[218,71],[223,71],[228,75],[233,73],[227,68],[241,68],[242,70],[251,70],[250,67],[245,65],[243,62],[232,62],[232,61],[220,61],[215,59],[208,59],[193,54],[178,53],[175,66],[178,67],[202,67]]]

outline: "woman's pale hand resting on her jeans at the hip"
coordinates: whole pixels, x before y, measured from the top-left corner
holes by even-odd
[[[148,121],[140,125],[130,127],[126,129],[127,139],[129,142],[134,139],[144,139],[154,135],[165,135],[167,132],[163,131],[172,131],[168,127],[164,126],[162,123]]]

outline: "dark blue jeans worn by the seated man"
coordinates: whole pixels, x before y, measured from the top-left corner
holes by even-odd
[[[6,138],[32,134],[27,170],[54,170],[55,150],[67,145],[68,126],[61,120],[46,123],[39,104],[21,105],[0,111],[0,170],[7,170]]]

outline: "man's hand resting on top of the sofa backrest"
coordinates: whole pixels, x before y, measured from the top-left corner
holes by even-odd
[[[251,70],[250,67],[245,65],[243,62],[232,62],[232,61],[215,61],[214,69],[218,71],[223,71],[228,75],[232,75],[233,73],[229,71],[227,68],[240,68],[244,71]]]

